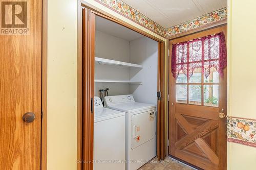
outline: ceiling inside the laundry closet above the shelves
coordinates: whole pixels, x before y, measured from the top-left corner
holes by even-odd
[[[125,39],[127,41],[132,41],[143,37],[143,35],[131,29],[123,27],[116,22],[110,21],[100,16],[96,16],[96,30],[121,39]]]

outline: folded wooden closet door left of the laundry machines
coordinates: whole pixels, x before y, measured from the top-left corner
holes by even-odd
[[[95,14],[82,8],[82,169],[93,169]]]

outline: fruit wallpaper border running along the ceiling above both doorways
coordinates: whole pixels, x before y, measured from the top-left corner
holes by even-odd
[[[140,26],[153,31],[154,33],[160,35],[161,37],[169,37],[172,35],[180,34],[188,30],[193,30],[201,27],[205,27],[209,24],[220,22],[227,19],[227,7],[220,10],[208,13],[206,15],[197,17],[195,19],[181,23],[180,25],[163,28],[155,21],[147,18],[145,15],[135,10],[131,6],[122,2],[121,0],[94,0],[99,4],[121,14],[122,16],[138,23]]]

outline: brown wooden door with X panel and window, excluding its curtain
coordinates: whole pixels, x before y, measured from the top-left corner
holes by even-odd
[[[170,54],[173,44],[226,31],[223,26],[170,40]],[[227,113],[226,69],[223,77],[213,67],[207,79],[200,69],[193,76],[199,82],[169,72],[169,155],[202,169],[226,169],[226,116],[219,116]]]

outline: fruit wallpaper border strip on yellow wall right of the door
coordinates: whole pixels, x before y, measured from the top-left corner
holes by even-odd
[[[227,141],[256,147],[256,120],[227,117]]]

